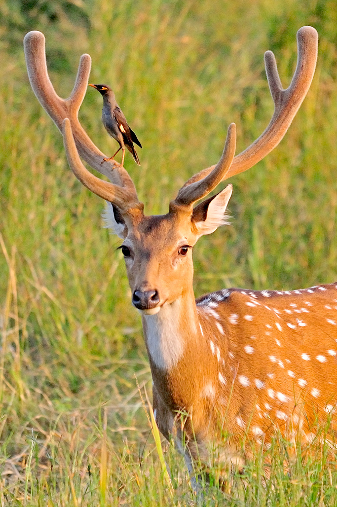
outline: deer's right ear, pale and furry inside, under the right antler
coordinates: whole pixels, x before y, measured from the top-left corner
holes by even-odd
[[[197,229],[198,236],[211,234],[220,225],[228,224],[226,212],[228,201],[232,195],[233,186],[227,187],[213,197],[201,202],[193,210],[192,222]]]

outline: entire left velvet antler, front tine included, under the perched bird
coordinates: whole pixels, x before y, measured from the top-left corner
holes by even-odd
[[[115,167],[113,162],[107,161],[102,163],[103,158],[107,157],[95,146],[79,122],[79,109],[88,87],[91,67],[90,56],[88,54],[81,56],[76,82],[70,97],[62,99],[56,94],[48,76],[44,34],[36,30],[30,31],[26,34],[23,44],[28,77],[36,97],[61,132],[64,119],[69,119],[70,125],[66,128],[66,132],[68,132],[66,136],[68,141],[65,140],[64,142],[67,146],[71,145],[69,135],[71,135],[72,132],[74,143],[81,157],[91,167],[107,176],[114,185],[111,186],[108,182],[93,176],[81,162],[81,171],[74,170],[74,168],[78,168],[79,165],[75,155],[76,150],[69,148],[67,152],[68,161],[74,174],[85,186],[100,197],[110,200],[113,196],[116,197],[118,194],[120,204],[123,198],[125,199],[123,208],[129,208],[130,206],[127,203],[130,204],[130,202],[132,202],[135,207],[139,209],[142,208],[142,204],[139,203],[137,198],[135,186],[127,171],[124,167]],[[75,158],[73,159],[73,157]],[[92,177],[88,176],[89,174]],[[117,186],[124,189],[124,192],[117,192]],[[114,187],[113,192],[111,191],[112,187]],[[109,198],[107,196],[109,196]]]

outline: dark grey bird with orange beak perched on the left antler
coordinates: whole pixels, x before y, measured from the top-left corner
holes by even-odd
[[[89,83],[89,86],[92,86],[103,97],[103,109],[102,109],[102,123],[105,127],[107,133],[116,139],[119,143],[120,147],[117,152],[109,158],[104,158],[103,162],[114,159],[114,157],[118,154],[120,150],[122,150],[122,163],[124,164],[125,157],[125,148],[129,150],[132,154],[134,161],[136,164],[140,165],[139,158],[137,152],[133,146],[133,143],[138,144],[140,148],[142,148],[140,141],[134,131],[129,127],[126,118],[116,102],[115,93],[108,85],[93,85]]]

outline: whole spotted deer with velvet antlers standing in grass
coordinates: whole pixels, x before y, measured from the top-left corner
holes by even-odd
[[[144,215],[129,174],[114,161],[103,162],[107,157],[78,120],[90,56],[81,57],[73,91],[64,100],[48,77],[44,35],[29,32],[24,47],[32,89],[63,133],[71,170],[107,201],[106,222],[123,240],[162,434],[167,439],[175,434],[191,473],[194,459],[207,461],[210,443],[223,449],[220,460],[240,464],[245,434],[268,443],[279,428],[310,439],[316,417],[332,414],[337,401],[337,284],[295,291],[226,288],[195,300],[192,249],[200,236],[226,223],[232,185],[195,203],[263,159],[287,131],[314,75],[316,30],[304,26],[297,32],[297,65],[287,89],[274,54],[266,52],[275,104],[266,130],[235,156],[236,127],[231,124],[218,164],[192,176],[168,213],[154,216]],[[89,172],[80,156],[111,183]],[[224,430],[232,438],[224,441]]]

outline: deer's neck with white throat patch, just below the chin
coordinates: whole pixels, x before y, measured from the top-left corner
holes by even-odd
[[[142,314],[142,324],[150,363],[169,373],[200,340],[200,327],[193,291],[164,304],[155,315]]]

